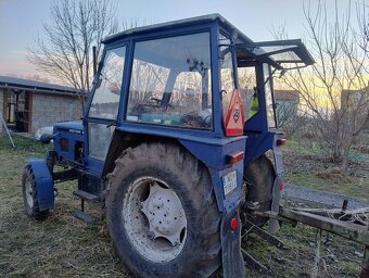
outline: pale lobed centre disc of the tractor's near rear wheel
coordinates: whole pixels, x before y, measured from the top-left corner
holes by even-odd
[[[166,238],[175,247],[180,243],[180,235],[186,227],[183,207],[176,193],[157,182],[150,186],[148,199],[141,203],[141,211],[148,217],[150,236]]]

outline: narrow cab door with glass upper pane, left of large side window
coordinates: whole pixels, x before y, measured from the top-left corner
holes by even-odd
[[[100,175],[118,115],[126,46],[107,49],[96,76],[93,97],[85,117],[86,166]]]

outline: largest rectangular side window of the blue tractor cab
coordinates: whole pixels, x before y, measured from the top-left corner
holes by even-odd
[[[135,46],[126,121],[211,129],[209,33]]]

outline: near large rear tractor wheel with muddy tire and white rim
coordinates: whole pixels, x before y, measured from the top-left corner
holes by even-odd
[[[209,277],[220,267],[220,213],[207,168],[175,144],[142,143],[109,176],[113,247],[137,277]]]

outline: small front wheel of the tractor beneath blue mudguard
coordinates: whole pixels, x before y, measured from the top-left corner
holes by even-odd
[[[48,216],[49,210],[40,211],[39,208],[36,179],[30,165],[27,165],[23,169],[22,191],[25,211],[29,217],[42,219]]]

